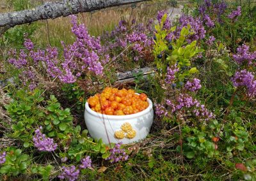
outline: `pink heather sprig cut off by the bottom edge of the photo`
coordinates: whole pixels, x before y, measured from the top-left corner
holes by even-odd
[[[75,181],[79,177],[80,170],[76,169],[76,166],[63,166],[62,173],[58,176],[60,179],[67,179],[69,181]]]

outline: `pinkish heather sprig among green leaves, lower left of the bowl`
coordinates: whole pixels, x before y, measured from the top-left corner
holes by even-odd
[[[42,126],[40,129],[36,129],[35,136],[33,137],[33,142],[35,147],[40,151],[52,152],[56,150],[57,144],[54,143],[52,138],[47,138],[45,134],[41,133]]]

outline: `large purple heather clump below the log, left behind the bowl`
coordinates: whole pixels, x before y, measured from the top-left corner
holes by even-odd
[[[84,24],[77,23],[76,16],[71,16],[71,19],[72,33],[76,40],[71,45],[61,42],[63,53],[57,47],[47,47],[45,50],[35,48],[29,39],[25,39],[25,50],[10,50],[8,62],[21,70],[21,77],[26,76],[29,89],[35,89],[39,78],[30,70],[31,67],[37,72],[45,71],[47,74],[42,76],[58,79],[61,83],[74,83],[88,73],[103,75],[104,64],[110,60],[106,47],[100,43],[99,37],[95,38],[88,33]]]

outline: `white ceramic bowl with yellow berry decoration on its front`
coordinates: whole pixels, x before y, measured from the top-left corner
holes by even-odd
[[[147,101],[149,106],[145,110],[131,115],[103,115],[94,112],[89,107],[88,102],[86,102],[84,120],[90,135],[95,139],[102,138],[104,143],[118,143],[122,141],[122,143],[127,144],[142,140],[148,135],[154,119],[152,101],[148,98]],[[131,124],[132,129],[136,131],[136,136],[131,139],[117,139],[115,131],[121,131],[121,126],[125,122]]]

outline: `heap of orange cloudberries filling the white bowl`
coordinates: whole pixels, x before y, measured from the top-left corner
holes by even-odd
[[[132,89],[106,87],[101,94],[88,99],[90,108],[106,115],[129,115],[138,113],[148,107],[147,95],[135,94]]]

